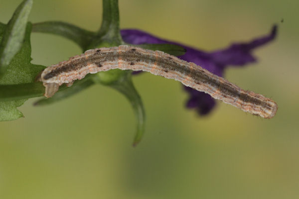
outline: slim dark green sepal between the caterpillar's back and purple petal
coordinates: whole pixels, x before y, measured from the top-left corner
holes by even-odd
[[[175,44],[140,44],[140,45],[127,44],[127,45],[145,48],[149,50],[159,50],[173,56],[181,56],[186,53],[186,49]]]

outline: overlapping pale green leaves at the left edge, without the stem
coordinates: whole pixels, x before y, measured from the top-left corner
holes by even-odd
[[[44,69],[43,66],[30,63],[31,24],[27,24],[27,20],[31,7],[32,0],[24,0],[16,8],[7,25],[0,24],[1,86],[33,82],[36,74]],[[2,97],[5,94],[16,93],[16,91],[11,88],[6,88],[0,93]],[[0,121],[22,117],[23,114],[17,110],[16,107],[22,105],[25,101],[26,99],[0,101]]]

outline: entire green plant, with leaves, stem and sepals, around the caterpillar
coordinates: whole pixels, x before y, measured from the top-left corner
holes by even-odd
[[[31,24],[28,23],[26,28],[26,23],[31,6],[32,0],[24,0],[7,25],[0,23],[0,72],[2,72],[2,77],[0,77],[0,120],[2,121],[23,116],[16,107],[22,105],[28,98],[42,96],[45,91],[42,83],[34,80],[37,74],[44,69],[44,66],[30,63]],[[32,31],[63,36],[77,43],[84,52],[93,48],[125,44],[120,34],[119,23],[118,0],[103,0],[103,20],[101,28],[97,32],[84,30],[61,21],[33,24]],[[182,47],[171,44],[135,46],[161,50],[175,56],[185,53]],[[84,79],[75,81],[72,87],[60,86],[59,91],[52,98],[38,100],[35,105],[45,105],[66,99],[95,83],[109,86],[125,95],[134,109],[138,121],[137,133],[133,143],[136,145],[144,134],[145,110],[132,83],[131,73],[132,71],[110,70],[89,74]]]

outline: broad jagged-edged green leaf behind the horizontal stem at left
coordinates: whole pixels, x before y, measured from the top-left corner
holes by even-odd
[[[21,49],[15,54],[10,63],[7,66],[6,73],[0,78],[1,87],[6,87],[4,91],[0,89],[1,97],[7,94],[16,94],[17,91],[9,88],[14,85],[23,85],[24,83],[34,82],[37,74],[45,67],[41,65],[31,64],[31,46],[30,46],[30,33],[31,24],[28,23],[25,31],[25,40]],[[39,84],[41,88],[41,84]],[[44,89],[44,88],[43,88]],[[23,92],[28,92],[22,89]],[[30,91],[31,92],[31,91]],[[0,121],[7,121],[22,117],[23,114],[16,109],[16,107],[22,105],[26,99],[23,100],[11,100],[0,101]]]

